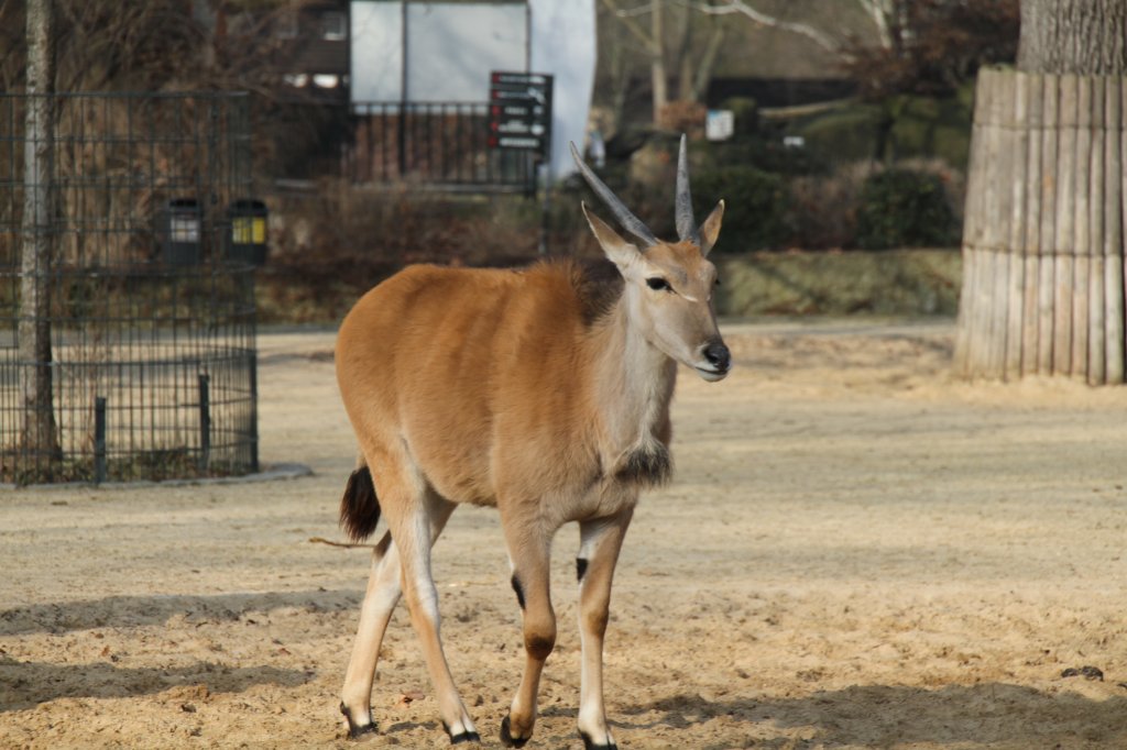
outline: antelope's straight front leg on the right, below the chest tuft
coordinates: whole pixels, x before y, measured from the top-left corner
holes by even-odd
[[[633,510],[579,524],[579,635],[583,672],[579,688],[579,735],[586,750],[618,748],[606,726],[603,707],[603,636],[611,607],[611,580],[622,538]]]

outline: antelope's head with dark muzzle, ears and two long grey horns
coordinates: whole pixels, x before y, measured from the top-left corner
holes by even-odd
[[[720,233],[724,200],[696,225],[689,190],[685,136],[681,136],[677,155],[676,242],[654,236],[584,163],[574,143],[571,157],[591,188],[622,227],[639,241],[624,240],[583,204],[591,231],[625,279],[623,294],[632,323],[653,346],[692,367],[706,381],[724,380],[731,368],[731,356],[716,324],[712,292],[718,280],[716,266],[708,260]]]

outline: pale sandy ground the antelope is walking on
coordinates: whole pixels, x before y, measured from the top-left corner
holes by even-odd
[[[726,327],[738,369],[683,373],[677,477],[615,580],[607,709],[623,748],[1127,747],[1127,389],[950,381],[953,327]],[[0,747],[445,747],[406,613],[344,739],[337,691],[367,553],[329,333],[261,345],[261,455],[311,477],[0,495]],[[574,556],[530,747],[575,748]],[[485,744],[523,662],[496,516],[435,553],[444,635]],[[1103,680],[1062,677],[1098,667]],[[408,698],[414,699],[406,699]]]

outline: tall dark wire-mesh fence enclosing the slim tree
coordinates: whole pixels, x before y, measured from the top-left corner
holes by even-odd
[[[54,95],[48,142],[25,131],[35,99],[0,96],[0,480],[257,471],[254,267],[231,241],[247,97]]]

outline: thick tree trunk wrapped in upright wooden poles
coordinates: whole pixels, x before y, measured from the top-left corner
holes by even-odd
[[[1127,0],[1022,0],[1019,71],[983,70],[956,370],[1122,383]]]

